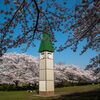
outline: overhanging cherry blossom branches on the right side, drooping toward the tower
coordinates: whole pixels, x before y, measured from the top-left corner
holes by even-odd
[[[73,30],[64,45],[61,45],[58,51],[72,47],[75,52],[81,41],[86,41],[81,54],[88,49],[100,51],[100,1],[82,0],[80,5],[75,7],[75,22],[71,24]],[[91,59],[87,67],[100,67],[100,54]]]

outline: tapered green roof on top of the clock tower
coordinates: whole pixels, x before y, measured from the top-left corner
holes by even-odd
[[[44,52],[44,51],[54,52],[54,48],[50,39],[50,34],[46,32],[43,33],[39,48],[39,52]]]

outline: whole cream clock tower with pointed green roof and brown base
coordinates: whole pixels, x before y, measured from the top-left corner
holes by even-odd
[[[54,94],[54,67],[53,67],[53,45],[50,34],[45,31],[40,43],[40,68],[39,68],[39,94]]]

